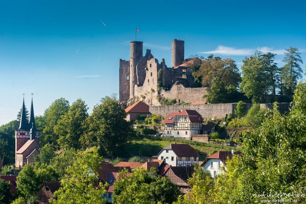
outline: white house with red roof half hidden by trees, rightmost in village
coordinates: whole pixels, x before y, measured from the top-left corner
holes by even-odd
[[[210,172],[212,177],[216,177],[218,174],[223,173],[222,167],[224,166],[227,158],[232,159],[233,155],[239,155],[240,152],[232,151],[217,151],[215,154],[206,158],[206,160],[201,165],[204,169]]]

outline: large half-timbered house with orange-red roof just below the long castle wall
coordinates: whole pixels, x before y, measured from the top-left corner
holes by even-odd
[[[192,139],[192,135],[202,134],[203,118],[195,110],[183,110],[166,116],[164,134],[181,139]]]

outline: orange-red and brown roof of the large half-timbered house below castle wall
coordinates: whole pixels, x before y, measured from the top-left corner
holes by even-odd
[[[195,110],[183,110],[183,111],[177,111],[170,113],[166,116],[165,120],[163,120],[163,123],[173,123],[175,116],[188,116],[189,120],[191,122],[203,122],[202,116]]]

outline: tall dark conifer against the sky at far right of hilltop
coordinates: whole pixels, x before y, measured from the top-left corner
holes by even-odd
[[[286,49],[285,57],[283,59],[284,67],[282,70],[282,78],[284,83],[284,88],[287,90],[286,94],[291,96],[296,84],[297,80],[302,78],[303,70],[300,66],[300,63],[303,63],[300,52],[298,48],[290,47]]]

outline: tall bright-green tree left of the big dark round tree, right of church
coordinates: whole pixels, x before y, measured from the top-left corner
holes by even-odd
[[[58,143],[61,148],[80,148],[79,139],[85,131],[84,123],[88,117],[87,110],[85,101],[79,98],[58,121],[54,132],[59,135]]]

